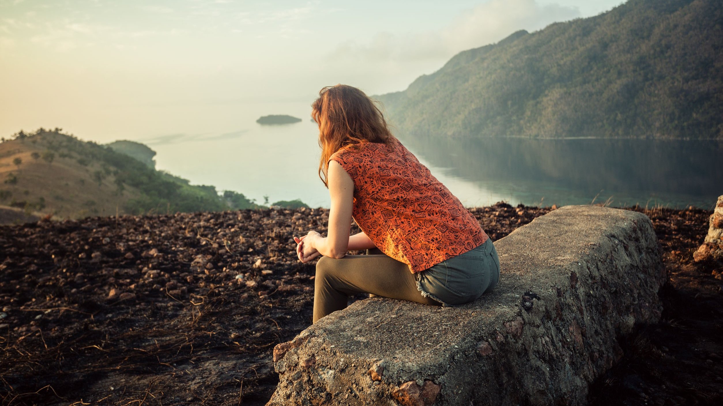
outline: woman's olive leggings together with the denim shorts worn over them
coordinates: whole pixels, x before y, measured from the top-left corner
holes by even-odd
[[[469,303],[495,288],[500,278],[500,259],[487,239],[466,253],[413,274],[407,264],[382,254],[323,256],[317,262],[314,290],[314,323],[333,311],[346,308],[348,296],[402,299],[436,306]]]

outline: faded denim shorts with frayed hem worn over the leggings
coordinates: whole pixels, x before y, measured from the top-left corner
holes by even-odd
[[[476,300],[499,280],[500,257],[487,238],[474,249],[417,272],[416,288],[442,306],[455,306]]]

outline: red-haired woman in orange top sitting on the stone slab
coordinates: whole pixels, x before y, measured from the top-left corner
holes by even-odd
[[[370,293],[454,306],[495,288],[495,246],[459,199],[387,128],[356,87],[324,87],[312,104],[322,149],[319,177],[329,189],[328,235],[294,237],[301,262],[316,266],[314,323]],[[351,218],[362,232],[349,236]],[[379,254],[346,255],[378,249]]]

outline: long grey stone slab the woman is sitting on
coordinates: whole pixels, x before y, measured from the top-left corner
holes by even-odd
[[[495,246],[500,284],[474,303],[370,298],[277,345],[268,405],[584,405],[617,338],[659,320],[649,218],[567,206]]]

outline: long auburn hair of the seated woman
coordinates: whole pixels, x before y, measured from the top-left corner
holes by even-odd
[[[329,187],[329,158],[343,147],[361,148],[367,142],[390,146],[395,137],[388,129],[379,103],[353,86],[322,87],[312,103],[312,118],[319,124],[319,178]]]

